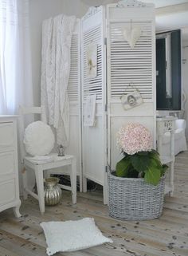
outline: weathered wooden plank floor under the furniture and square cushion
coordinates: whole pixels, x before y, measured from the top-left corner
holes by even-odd
[[[0,256],[45,256],[43,221],[76,220],[92,217],[107,243],[86,250],[58,253],[56,256],[187,256],[188,255],[188,152],[176,156],[174,195],[166,196],[163,215],[149,221],[119,221],[108,215],[102,191],[78,193],[72,205],[69,191],[63,191],[59,205],[45,207],[41,215],[37,200],[22,201],[22,217],[11,209],[0,213]]]

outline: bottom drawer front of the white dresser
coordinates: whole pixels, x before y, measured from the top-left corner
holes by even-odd
[[[0,183],[0,205],[13,202],[16,199],[15,179]]]

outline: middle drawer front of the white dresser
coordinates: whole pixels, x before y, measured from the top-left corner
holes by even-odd
[[[0,175],[10,175],[15,172],[14,152],[0,153]]]

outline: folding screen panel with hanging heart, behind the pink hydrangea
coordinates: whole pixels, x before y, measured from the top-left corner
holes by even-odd
[[[121,158],[116,133],[122,125],[143,124],[150,129],[155,147],[155,8],[135,0],[108,5],[107,27],[108,164],[115,168]],[[140,28],[141,34],[131,48],[123,33],[133,28]],[[135,89],[143,104],[124,110],[120,97]]]

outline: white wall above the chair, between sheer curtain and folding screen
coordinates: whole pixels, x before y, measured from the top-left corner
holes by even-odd
[[[32,57],[32,77],[34,104],[40,105],[41,86],[41,24],[42,21],[58,14],[82,17],[88,6],[80,0],[30,0],[29,22]]]

